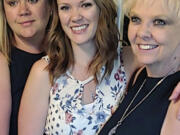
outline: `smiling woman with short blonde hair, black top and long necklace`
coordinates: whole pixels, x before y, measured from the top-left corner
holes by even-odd
[[[168,99],[180,81],[180,1],[125,0],[123,9],[133,53],[144,66],[100,135],[178,135],[179,101]]]

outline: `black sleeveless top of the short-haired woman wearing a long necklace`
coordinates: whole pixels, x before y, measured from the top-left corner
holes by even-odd
[[[99,135],[107,135],[117,124],[145,78],[147,79],[146,83],[136,97],[132,107],[147,95],[157,82],[162,79],[147,77],[146,70],[144,69],[138,76],[134,86],[131,87],[132,83],[129,85],[128,94],[110,120],[105,124]],[[155,91],[123,121],[122,125],[117,128],[115,135],[159,135],[170,103],[168,98],[179,81],[180,71],[168,76]],[[130,107],[130,110],[132,107]]]

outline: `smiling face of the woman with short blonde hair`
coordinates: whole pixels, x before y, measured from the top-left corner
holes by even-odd
[[[165,64],[180,51],[180,19],[163,0],[137,2],[130,11],[128,37],[133,52],[144,64]]]

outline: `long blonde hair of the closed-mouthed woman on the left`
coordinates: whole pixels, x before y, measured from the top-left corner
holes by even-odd
[[[48,0],[48,4],[50,5],[52,14],[50,16],[46,32],[53,31],[54,25],[58,22],[57,13],[55,10],[56,3],[54,0]],[[0,52],[6,57],[8,61],[10,61],[10,52],[11,47],[15,43],[13,31],[7,23],[6,15],[4,11],[4,0],[0,0]]]

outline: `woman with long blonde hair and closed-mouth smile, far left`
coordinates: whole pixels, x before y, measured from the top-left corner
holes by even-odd
[[[17,135],[21,95],[32,64],[45,55],[53,29],[51,0],[0,1],[0,134]]]

